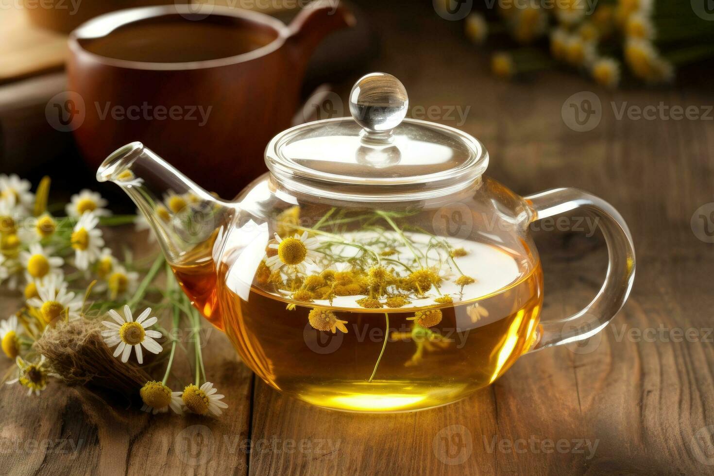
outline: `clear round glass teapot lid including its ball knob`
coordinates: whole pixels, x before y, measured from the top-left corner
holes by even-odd
[[[391,74],[371,73],[352,88],[352,117],[290,128],[268,144],[273,176],[307,193],[402,200],[468,186],[488,166],[476,138],[456,128],[405,118],[406,89]]]

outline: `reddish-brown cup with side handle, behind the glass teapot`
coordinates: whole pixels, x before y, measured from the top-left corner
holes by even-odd
[[[290,126],[313,49],[352,23],[334,2],[309,5],[288,26],[210,5],[92,19],[69,39],[79,148],[96,168],[141,141],[201,186],[235,196],[264,171],[268,141]]]

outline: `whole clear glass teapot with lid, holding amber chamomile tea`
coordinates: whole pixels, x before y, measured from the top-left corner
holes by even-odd
[[[635,275],[628,227],[575,188],[521,197],[483,175],[479,141],[405,118],[395,77],[363,76],[351,118],[283,131],[269,173],[235,201],[196,186],[141,143],[114,181],[144,213],[193,305],[268,385],[321,407],[420,410],[493,383],[524,353],[598,333]],[[529,225],[582,209],[608,245],[600,292],[541,320]]]

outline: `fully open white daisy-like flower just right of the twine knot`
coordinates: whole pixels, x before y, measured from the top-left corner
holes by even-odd
[[[107,320],[101,321],[102,324],[109,328],[109,330],[102,330],[101,335],[104,336],[106,345],[109,347],[116,345],[114,357],[121,354],[121,361],[126,363],[129,360],[129,355],[131,355],[131,348],[134,348],[136,350],[136,361],[141,364],[144,363],[142,346],[154,354],[161,352],[161,344],[154,340],[154,338],[161,338],[161,333],[158,330],[146,330],[158,320],[156,317],[149,318],[149,314],[151,314],[151,308],[146,308],[134,320],[128,305],[124,305],[124,317],[114,309],[109,311],[109,315],[116,323],[111,323]]]

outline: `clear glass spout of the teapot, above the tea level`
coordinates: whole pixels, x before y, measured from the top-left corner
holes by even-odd
[[[116,183],[131,197],[174,268],[208,265],[218,231],[233,216],[232,203],[197,186],[141,142],[114,151],[96,179]]]

